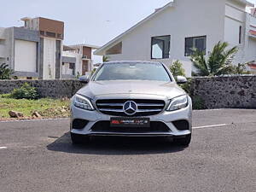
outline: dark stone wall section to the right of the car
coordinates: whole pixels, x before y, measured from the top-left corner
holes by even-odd
[[[191,95],[206,108],[256,108],[256,76],[195,78]]]

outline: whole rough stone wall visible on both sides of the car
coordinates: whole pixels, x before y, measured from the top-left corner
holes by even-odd
[[[84,86],[77,79],[0,80],[0,94],[9,93],[28,83],[43,97],[72,97]],[[256,108],[256,76],[195,78],[191,96],[200,97],[206,108]]]

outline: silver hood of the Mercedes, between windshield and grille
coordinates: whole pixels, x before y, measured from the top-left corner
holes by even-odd
[[[82,96],[94,99],[108,95],[154,95],[174,98],[185,93],[176,83],[160,81],[90,81],[78,91]]]

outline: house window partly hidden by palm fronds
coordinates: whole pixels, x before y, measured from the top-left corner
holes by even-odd
[[[192,55],[193,49],[198,49],[206,54],[207,36],[185,38],[185,56]]]

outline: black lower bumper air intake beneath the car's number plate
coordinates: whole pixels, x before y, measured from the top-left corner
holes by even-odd
[[[116,132],[116,133],[147,133],[147,132],[170,132],[168,126],[159,121],[150,122],[150,127],[111,127],[110,121],[99,121],[90,129],[94,132]]]

